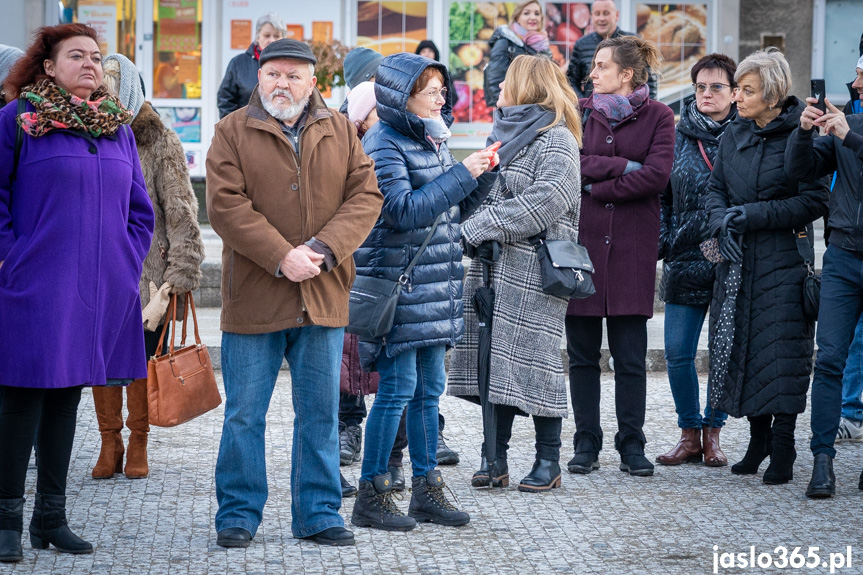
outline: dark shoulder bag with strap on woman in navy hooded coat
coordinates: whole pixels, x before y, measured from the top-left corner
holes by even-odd
[[[440,214],[432,224],[431,230],[423,240],[419,251],[413,257],[408,267],[396,281],[385,278],[358,275],[351,287],[350,319],[345,331],[353,333],[360,339],[380,339],[393,328],[396,317],[396,307],[402,288],[410,282],[410,275],[425,251],[443,214]]]

